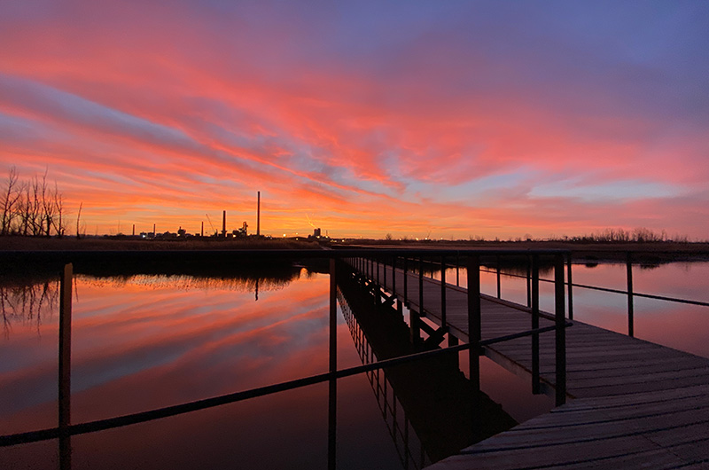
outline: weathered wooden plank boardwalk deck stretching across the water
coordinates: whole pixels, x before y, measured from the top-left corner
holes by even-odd
[[[464,288],[407,272],[404,298],[403,270],[377,264],[367,274],[436,325],[445,296],[448,333],[468,341]],[[482,340],[532,327],[526,306],[481,295],[480,307]],[[553,325],[549,318],[539,326]],[[569,402],[430,468],[709,468],[709,359],[578,321],[565,333]],[[554,333],[539,344],[541,391],[553,393]],[[529,378],[531,350],[529,336],[483,349]]]

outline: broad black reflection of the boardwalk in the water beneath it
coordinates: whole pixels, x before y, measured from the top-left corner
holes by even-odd
[[[371,295],[351,278],[339,281],[339,302],[362,364],[417,352],[401,313],[377,307]],[[367,375],[404,468],[430,465],[517,424],[473,390],[457,354]]]

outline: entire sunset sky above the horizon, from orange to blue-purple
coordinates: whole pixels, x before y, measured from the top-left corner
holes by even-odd
[[[0,176],[87,233],[709,239],[709,2],[0,3]],[[74,232],[74,227],[71,227]]]

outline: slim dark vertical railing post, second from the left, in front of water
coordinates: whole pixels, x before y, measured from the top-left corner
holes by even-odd
[[[335,470],[337,466],[337,396],[338,382],[335,372],[338,370],[338,298],[337,272],[335,258],[330,259],[330,395],[328,401],[328,468]]]

